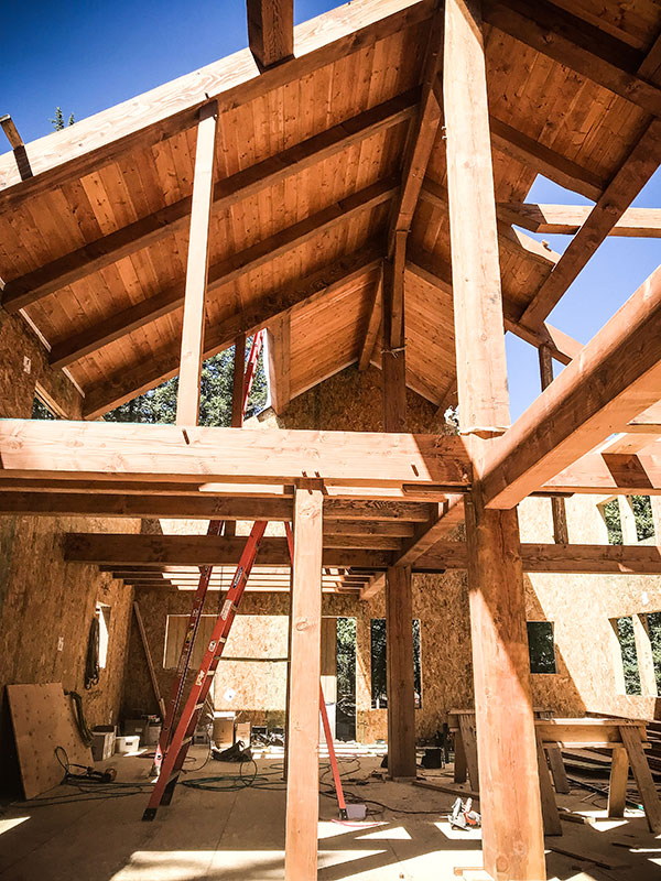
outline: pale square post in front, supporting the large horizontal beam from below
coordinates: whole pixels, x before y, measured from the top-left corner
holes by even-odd
[[[317,877],[322,504],[321,488],[296,488],[285,881],[314,881]]]

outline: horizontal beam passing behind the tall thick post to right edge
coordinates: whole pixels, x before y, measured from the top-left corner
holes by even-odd
[[[523,570],[528,573],[564,573],[576,575],[659,575],[661,548],[638,545],[522,544]],[[419,569],[431,566],[465,569],[468,565],[466,544],[436,544],[415,564]]]

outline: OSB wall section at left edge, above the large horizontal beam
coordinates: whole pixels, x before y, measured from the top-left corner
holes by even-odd
[[[30,359],[25,372],[23,358]],[[48,365],[47,352],[20,315],[0,307],[0,417],[30,418],[40,383],[68,418],[80,418],[83,399],[73,382]]]

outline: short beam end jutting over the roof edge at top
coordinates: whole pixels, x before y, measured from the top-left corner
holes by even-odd
[[[294,55],[294,0],[246,0],[248,45],[260,72]]]

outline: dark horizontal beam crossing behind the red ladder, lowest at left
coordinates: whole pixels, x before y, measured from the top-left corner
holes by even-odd
[[[246,545],[243,536],[131,535],[127,533],[68,533],[65,559],[96,563],[116,568],[133,564],[160,563],[170,566],[236,565]],[[324,566],[369,566],[384,568],[388,551],[324,548]],[[286,539],[263,539],[258,565],[286,566],[290,561]]]

